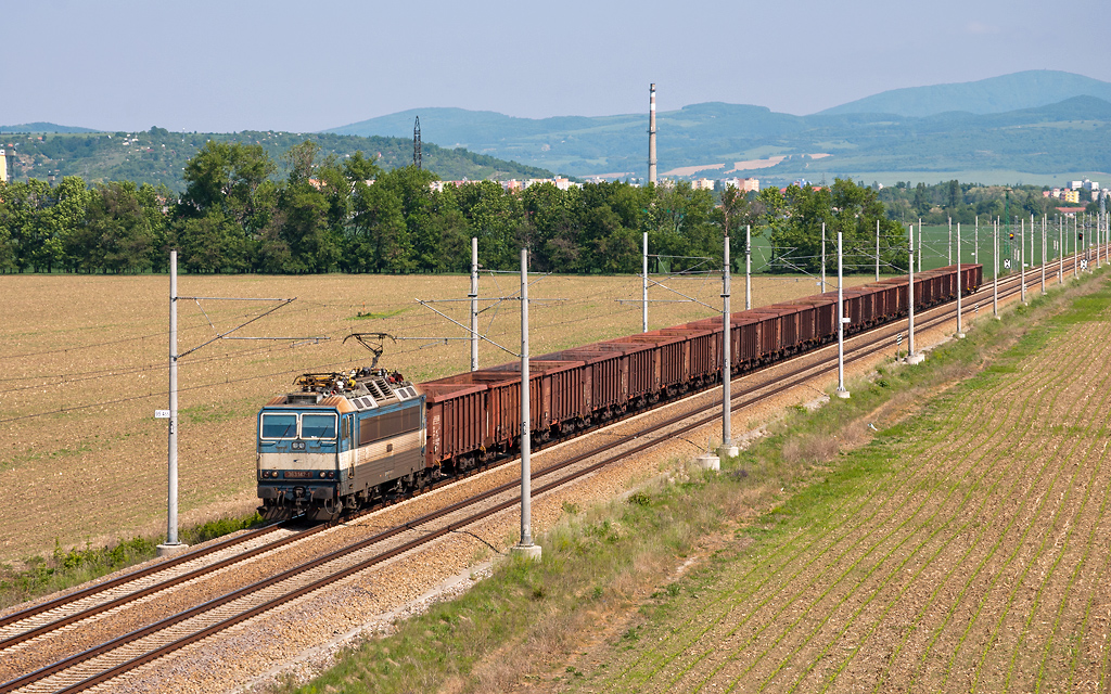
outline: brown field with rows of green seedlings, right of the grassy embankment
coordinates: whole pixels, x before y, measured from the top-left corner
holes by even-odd
[[[879,433],[833,486],[740,530],[659,608],[585,645],[575,677],[536,688],[1105,691],[1103,282],[1101,311],[1065,314]]]

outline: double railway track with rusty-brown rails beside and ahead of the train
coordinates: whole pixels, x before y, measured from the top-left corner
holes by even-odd
[[[1070,261],[1072,259],[1069,259]],[[1071,262],[1065,263],[1071,271]],[[1055,274],[1055,263],[1054,263]],[[1030,285],[1038,285],[1040,276],[1033,275]],[[1000,299],[1008,299],[1020,292],[1019,278],[1012,275],[1000,281]],[[981,292],[990,289],[990,283]],[[979,302],[982,303],[982,302]],[[935,306],[920,314],[917,326],[927,330],[952,320],[952,303]],[[847,346],[845,361],[851,363],[870,356],[881,345],[889,344],[901,322],[888,323],[855,335],[852,346]],[[822,350],[831,351],[832,345],[807,352],[814,355]],[[770,379],[754,379],[754,383],[739,390],[732,399],[731,410],[737,411],[752,403],[783,392],[798,384],[837,369],[835,361],[827,356],[815,364],[792,370]],[[789,363],[789,362],[788,362]],[[747,374],[750,379],[754,374]],[[680,401],[681,402],[681,401]],[[675,404],[675,403],[669,403]],[[593,451],[563,460],[537,471],[534,480],[553,477],[534,485],[532,494],[540,495],[559,489],[588,475],[617,460],[633,455],[657,445],[661,437],[673,437],[695,430],[720,419],[720,401],[701,410],[685,412],[657,422],[618,440],[608,441]],[[713,414],[704,414],[713,411]],[[598,459],[599,454],[623,447],[620,453]],[[504,464],[504,461],[501,463]],[[334,552],[303,562],[262,581],[231,591],[214,600],[198,604],[189,610],[167,616],[141,628],[116,636],[91,648],[73,653],[57,662],[28,672],[14,680],[0,684],[0,694],[9,692],[79,692],[108,682],[126,672],[140,667],[169,653],[197,643],[212,634],[288,604],[338,581],[387,562],[439,537],[457,532],[482,519],[514,507],[520,503],[520,483],[510,482],[470,499],[447,505],[408,523],[379,532],[371,537],[344,546]],[[124,607],[128,603],[154,595],[190,581],[221,571],[240,562],[247,562],[261,554],[289,546],[311,537],[331,524],[321,524],[300,532],[289,531],[283,524],[267,526],[244,533],[151,567],[132,572],[103,584],[78,591],[32,608],[12,613],[0,618],[0,657],[18,651],[22,644],[36,640],[64,637],[63,631],[74,625],[91,623],[100,614]],[[284,532],[279,532],[284,531]],[[282,536],[274,542],[268,537],[276,533]]]

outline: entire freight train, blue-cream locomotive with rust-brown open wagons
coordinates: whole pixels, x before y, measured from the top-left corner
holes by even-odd
[[[843,291],[847,334],[980,288],[979,264],[950,265]],[[640,412],[721,381],[722,319],[529,360],[536,444]],[[733,313],[737,375],[837,340],[837,292]],[[303,374],[258,415],[258,496],[267,517],[344,511],[403,497],[513,455],[521,436],[520,364],[414,384],[382,369]]]

